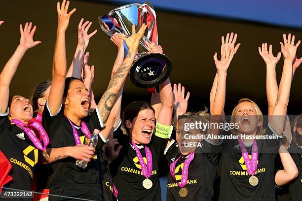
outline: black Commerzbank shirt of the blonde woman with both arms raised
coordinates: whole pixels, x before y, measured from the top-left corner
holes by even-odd
[[[269,128],[266,129],[266,134],[276,136]],[[255,176],[259,183],[252,186],[238,139],[225,139],[219,161],[220,201],[275,201],[274,160],[279,142],[279,138],[257,139],[258,165]],[[252,145],[246,146],[246,149],[251,158]]]

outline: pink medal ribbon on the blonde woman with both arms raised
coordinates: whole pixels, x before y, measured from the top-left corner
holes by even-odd
[[[252,146],[252,160],[249,157],[249,153],[240,137],[238,137],[240,144],[241,153],[245,162],[246,169],[250,175],[254,175],[257,170],[257,160],[258,160],[258,146],[256,139]]]

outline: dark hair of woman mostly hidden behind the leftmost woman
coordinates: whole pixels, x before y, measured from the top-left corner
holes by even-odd
[[[34,113],[37,113],[39,110],[38,99],[45,96],[45,91],[50,87],[51,80],[46,80],[36,85],[31,97],[31,104],[33,105]]]

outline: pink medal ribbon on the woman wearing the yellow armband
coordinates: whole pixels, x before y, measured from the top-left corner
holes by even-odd
[[[145,145],[147,166],[148,166],[147,167],[145,162],[144,162],[144,159],[142,157],[142,154],[141,154],[140,150],[137,148],[137,145],[132,140],[131,140],[131,144],[134,146],[136,156],[139,159],[139,162],[140,162],[140,165],[141,165],[141,168],[142,168],[142,173],[148,179],[152,174],[152,156],[151,156],[150,148],[147,145]]]

